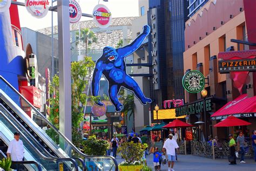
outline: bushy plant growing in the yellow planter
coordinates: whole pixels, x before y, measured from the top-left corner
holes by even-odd
[[[145,147],[141,143],[124,142],[122,146],[118,148],[117,153],[125,159],[127,165],[142,165],[141,159],[143,157]]]

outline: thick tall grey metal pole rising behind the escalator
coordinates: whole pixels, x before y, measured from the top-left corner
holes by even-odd
[[[59,129],[66,138],[72,139],[71,124],[71,57],[69,30],[69,1],[57,0],[58,55],[59,55]],[[60,147],[66,148],[63,139]]]

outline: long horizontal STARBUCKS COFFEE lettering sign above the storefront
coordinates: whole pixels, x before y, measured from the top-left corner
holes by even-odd
[[[205,110],[211,111],[212,110],[212,101],[211,99],[205,100]],[[191,115],[204,112],[204,100],[200,100],[197,102],[193,102],[191,104],[183,105],[177,107],[175,109],[176,117],[181,117],[184,115]]]

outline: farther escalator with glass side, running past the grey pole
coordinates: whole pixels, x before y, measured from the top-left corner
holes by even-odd
[[[25,113],[28,108],[33,110],[31,118]],[[73,158],[82,165],[80,165],[82,169],[85,169],[83,166],[86,165],[87,169],[93,168],[93,170],[118,170],[117,161],[112,156],[88,156],[80,152],[2,76],[0,76],[0,111],[8,116],[26,138],[48,158]],[[59,143],[54,142],[45,133],[45,125],[50,127],[57,139],[62,140],[66,146],[65,152],[59,147]]]

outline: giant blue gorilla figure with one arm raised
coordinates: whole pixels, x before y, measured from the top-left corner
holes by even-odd
[[[103,74],[109,82],[109,98],[117,112],[121,111],[121,107],[123,107],[117,98],[120,87],[122,86],[132,91],[143,105],[146,105],[147,102],[152,102],[151,99],[145,97],[136,81],[126,73],[126,64],[124,59],[142,45],[144,39],[149,35],[149,33],[150,26],[145,25],[143,33],[133,40],[131,44],[118,49],[114,49],[109,46],[104,47],[102,56],[96,62],[91,83],[92,95],[98,96],[99,81]],[[95,103],[99,106],[103,106],[100,99],[96,100]]]

